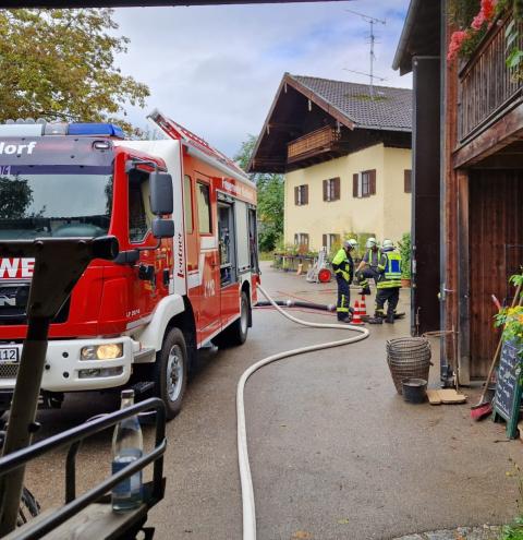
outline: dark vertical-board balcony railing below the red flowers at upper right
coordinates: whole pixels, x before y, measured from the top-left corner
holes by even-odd
[[[507,67],[506,31],[512,17],[498,19],[460,72],[458,135],[469,142],[490,122],[518,105],[522,81]],[[516,23],[514,45],[523,49],[523,23]]]

